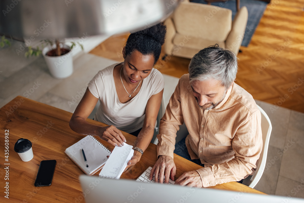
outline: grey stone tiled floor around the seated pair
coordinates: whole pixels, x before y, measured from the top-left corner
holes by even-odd
[[[115,61],[84,54],[74,60],[74,73],[54,79],[42,57],[24,58],[14,50],[20,42],[0,49],[0,107],[17,95],[73,112],[87,83],[98,70]],[[168,103],[178,78],[164,75]],[[34,89],[33,86],[36,84]],[[263,176],[255,189],[267,194],[304,198],[304,114],[256,101],[268,114],[272,133]]]

